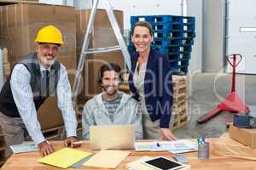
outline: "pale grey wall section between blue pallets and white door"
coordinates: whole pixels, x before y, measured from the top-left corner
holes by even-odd
[[[224,67],[224,5],[224,0],[203,0],[203,72]]]

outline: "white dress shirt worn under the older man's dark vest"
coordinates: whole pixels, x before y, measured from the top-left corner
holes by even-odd
[[[46,69],[44,66],[40,65],[40,70],[42,72]],[[20,113],[20,117],[23,120],[28,133],[32,137],[32,140],[36,144],[39,144],[45,139],[43,133],[41,132],[37,111],[33,102],[30,78],[31,74],[26,69],[26,66],[17,64],[12,71],[10,86],[15,104]],[[75,116],[75,111],[73,110],[72,94],[67,78],[67,70],[66,67],[62,64],[60,67],[60,78],[57,84],[56,94],[58,99],[58,107],[61,110],[61,114],[65,123],[67,137],[76,136],[78,123]],[[50,120],[49,117],[49,121],[55,120]]]

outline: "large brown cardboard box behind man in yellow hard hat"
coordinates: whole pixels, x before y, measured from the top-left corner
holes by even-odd
[[[73,59],[76,68],[76,23],[73,7],[18,3],[0,7],[0,42],[9,51],[9,62],[14,65],[20,56],[35,51],[34,39],[43,26],[54,25],[61,32],[64,45],[60,57]]]

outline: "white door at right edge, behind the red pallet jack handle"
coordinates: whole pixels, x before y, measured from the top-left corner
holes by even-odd
[[[241,54],[241,63],[237,65],[236,72],[256,74],[255,0],[229,0],[227,9],[227,54]],[[227,71],[232,72],[230,64],[227,65]]]

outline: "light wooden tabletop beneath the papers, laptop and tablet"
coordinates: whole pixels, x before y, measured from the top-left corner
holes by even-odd
[[[214,142],[216,139],[208,139],[210,143]],[[62,141],[52,142],[55,146],[55,150],[60,150],[62,148]],[[210,146],[211,147],[211,146]],[[90,144],[84,141],[82,147],[79,150],[96,152],[90,150]],[[212,152],[212,150],[211,150]],[[185,154],[189,159],[189,165],[191,169],[203,169],[203,170],[256,170],[256,161],[247,161],[243,159],[230,158],[224,156],[216,156],[211,154],[210,159],[206,161],[201,161],[197,158],[197,152],[191,152]],[[131,150],[131,155],[126,157],[125,160],[119,164],[117,169],[125,169],[125,164],[130,161],[135,161],[142,156],[166,156],[172,158],[169,152],[136,152]],[[3,165],[3,170],[52,170],[61,169],[58,167],[52,167],[49,165],[44,165],[38,162],[40,158],[39,152],[15,154],[9,158],[8,161]],[[73,168],[68,168],[73,169]],[[88,168],[81,167],[80,169],[102,169],[102,168]]]

